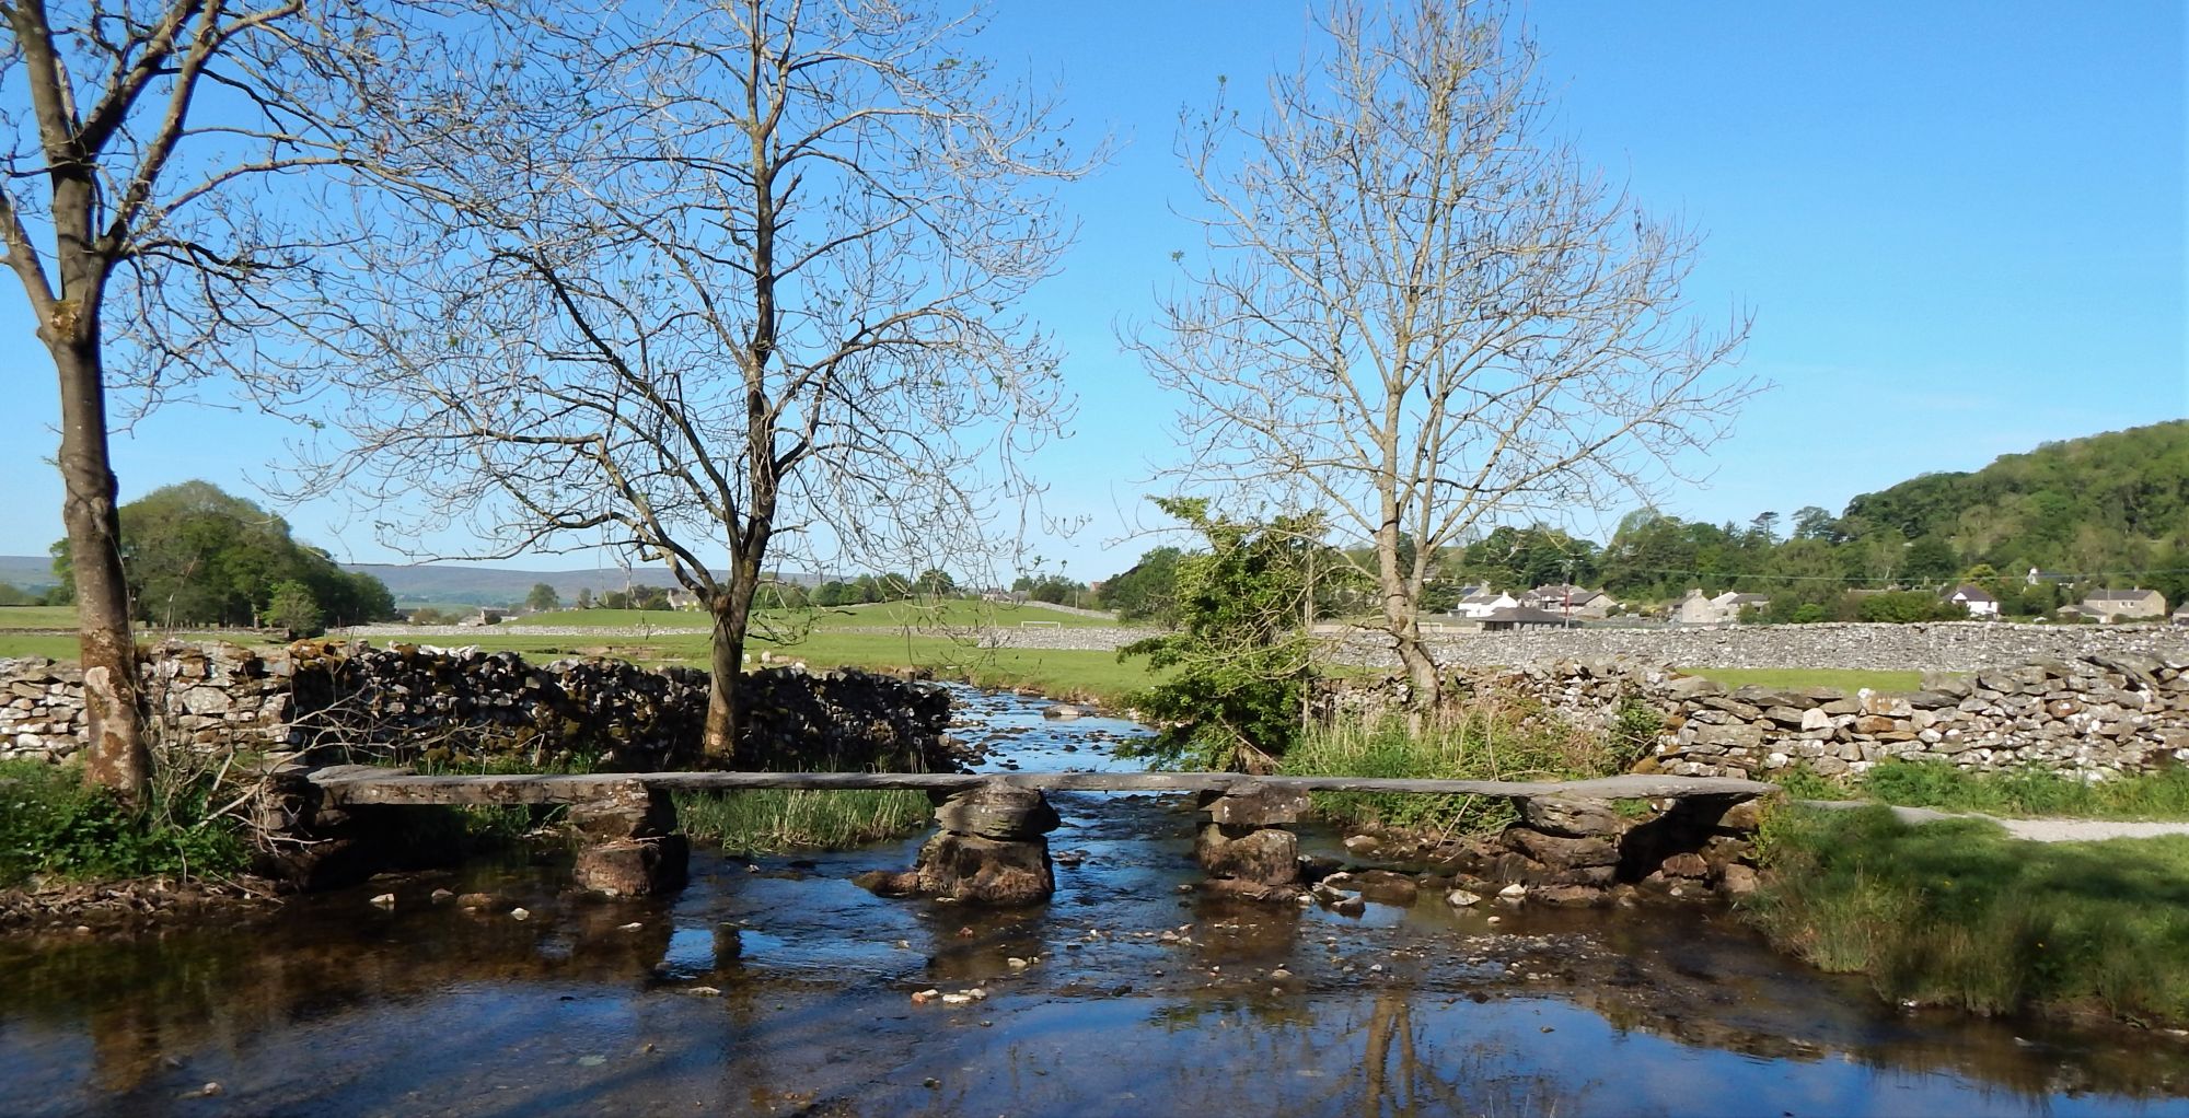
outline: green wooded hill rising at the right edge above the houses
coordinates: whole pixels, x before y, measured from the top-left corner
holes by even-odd
[[[1937,538],[2001,571],[2134,571],[2189,549],[2189,420],[2132,427],[1848,503],[1843,529]]]

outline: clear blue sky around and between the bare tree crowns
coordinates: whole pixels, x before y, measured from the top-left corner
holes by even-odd
[[[1773,387],[1707,459],[1679,516],[1839,510],[1924,470],[1968,470],[2045,440],[2189,416],[2185,357],[2185,53],[2178,2],[1517,7],[1543,53],[1556,129],[1637,201],[1707,234],[1699,313],[1756,313],[1740,372]],[[981,53],[1051,83],[1108,166],[1066,190],[1081,234],[1027,306],[1068,350],[1070,438],[1035,462],[1049,512],[1086,519],[1035,551],[1101,578],[1151,540],[1145,494],[1178,455],[1171,403],[1116,328],[1145,319],[1197,234],[1171,138],[1217,79],[1248,107],[1298,59],[1305,9],[1195,0],[1003,4]],[[59,538],[53,370],[20,289],[0,284],[0,554]],[[169,407],[116,438],[123,499],[252,477],[291,429]],[[392,562],[335,505],[285,510],[337,558]],[[1576,512],[1602,536],[1622,510]],[[591,567],[543,558],[532,567]]]

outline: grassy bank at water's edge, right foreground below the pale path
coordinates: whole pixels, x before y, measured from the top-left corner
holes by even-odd
[[[2189,1024],[2189,836],[2020,842],[1981,820],[1788,807],[1760,849],[1747,919],[1885,998]]]

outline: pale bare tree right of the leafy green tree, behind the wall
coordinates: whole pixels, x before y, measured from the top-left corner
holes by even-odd
[[[1189,484],[1281,490],[1373,543],[1355,562],[1427,707],[1440,551],[1721,435],[1749,387],[1710,374],[1747,319],[1688,322],[1696,236],[1541,136],[1502,7],[1342,0],[1320,31],[1259,120],[1219,96],[1182,123],[1208,265],[1132,343],[1186,400]]]

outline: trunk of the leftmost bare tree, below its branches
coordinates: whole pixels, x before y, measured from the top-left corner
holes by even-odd
[[[66,306],[66,304],[63,304]],[[96,311],[92,311],[96,315]],[[74,328],[70,328],[74,326]],[[107,394],[96,322],[48,324],[53,365],[61,379],[61,523],[77,582],[77,626],[83,659],[83,713],[90,744],[85,783],[142,803],[151,788],[144,685],[129,632],[129,584],[123,578],[120,514],[107,462]]]

